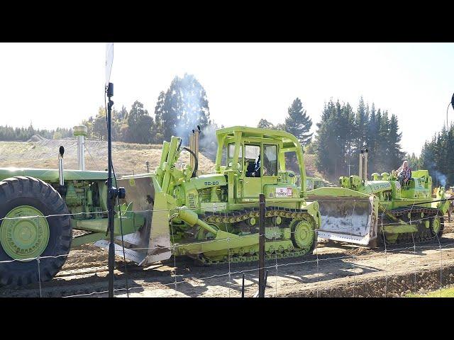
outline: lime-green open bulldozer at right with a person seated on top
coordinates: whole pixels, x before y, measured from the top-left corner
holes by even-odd
[[[359,169],[359,176],[341,176],[339,187],[309,191],[320,205],[320,238],[373,247],[441,237],[450,201],[444,188],[432,197],[427,170],[413,171],[404,186],[397,171],[374,173],[369,181],[367,149],[360,152]]]

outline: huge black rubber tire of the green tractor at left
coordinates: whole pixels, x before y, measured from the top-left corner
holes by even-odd
[[[21,207],[18,209],[31,207],[25,208],[28,209],[25,211],[39,210],[42,215],[49,216],[45,217],[48,225],[45,228],[47,232],[45,239],[48,237],[47,246],[42,242],[40,245],[42,248],[45,247],[45,249],[37,256],[35,255],[35,257],[39,256],[39,263],[37,259],[31,261],[16,259],[16,261],[11,261],[13,258],[6,253],[2,245],[11,241],[9,235],[17,227],[11,222],[17,219],[8,220],[4,217],[17,207]],[[0,286],[16,287],[38,283],[39,280],[41,282],[48,281],[60,271],[67,259],[67,254],[70,252],[72,241],[70,215],[65,214],[69,214],[65,200],[48,183],[28,176],[16,176],[0,181],[0,235],[2,235],[1,242],[4,242],[0,244]],[[43,222],[45,223],[45,221]],[[19,228],[23,228],[23,226],[21,225]],[[27,225],[25,225],[26,228],[28,228]],[[5,233],[6,230],[9,230],[9,235]],[[26,229],[25,233],[27,234],[27,232],[28,229]]]

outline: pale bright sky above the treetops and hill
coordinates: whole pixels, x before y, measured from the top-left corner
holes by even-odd
[[[223,125],[282,123],[299,97],[315,123],[330,98],[360,96],[399,118],[405,151],[440,130],[454,92],[452,43],[115,43],[114,102],[153,114],[173,77],[194,74]],[[104,105],[104,43],[0,43],[2,124],[72,127]],[[452,108],[450,120],[454,119]]]

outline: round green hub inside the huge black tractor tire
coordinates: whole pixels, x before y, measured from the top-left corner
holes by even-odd
[[[32,216],[24,218],[27,216]],[[49,242],[48,221],[29,205],[13,208],[0,226],[0,243],[12,259],[33,259],[43,254]],[[21,218],[16,218],[21,217]]]

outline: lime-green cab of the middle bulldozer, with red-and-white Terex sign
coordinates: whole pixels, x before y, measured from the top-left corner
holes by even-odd
[[[216,172],[226,174],[235,183],[233,199],[300,198],[306,181],[302,149],[296,137],[276,130],[233,127],[216,131],[218,152]],[[293,171],[286,170],[285,153],[295,152],[303,187],[296,185]],[[225,154],[225,160],[223,160]]]

